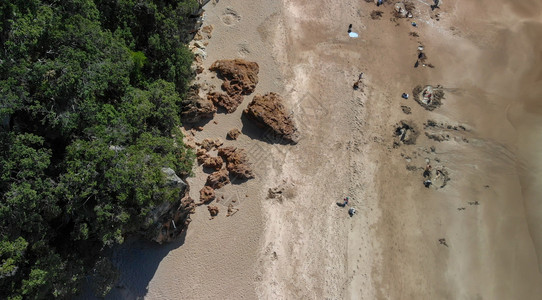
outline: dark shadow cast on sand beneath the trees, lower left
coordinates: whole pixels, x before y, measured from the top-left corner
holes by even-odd
[[[160,262],[170,251],[181,247],[186,238],[186,230],[179,237],[167,244],[144,240],[141,237],[130,237],[111,250],[109,258],[120,272],[119,281],[105,299],[144,299],[147,287],[154,277]],[[99,300],[86,283],[77,300]]]

